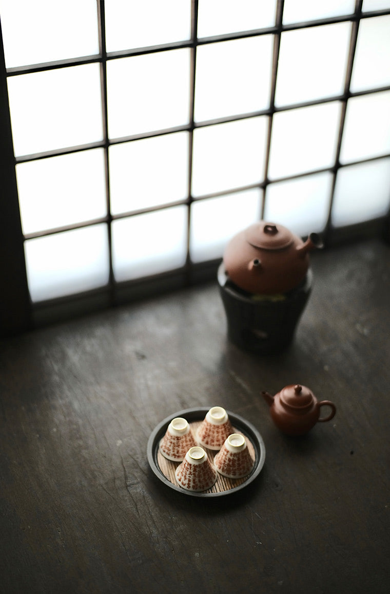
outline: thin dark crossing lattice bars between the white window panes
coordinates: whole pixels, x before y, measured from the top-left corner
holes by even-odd
[[[45,159],[47,157],[52,156],[59,156],[69,153],[76,153],[78,151],[84,150],[91,150],[100,148],[104,150],[104,168],[105,168],[105,175],[106,175],[106,200],[107,200],[107,215],[104,217],[99,217],[98,219],[89,220],[87,222],[77,223],[74,225],[66,225],[61,228],[55,229],[47,229],[42,230],[39,232],[32,232],[26,233],[24,235],[24,240],[28,241],[29,239],[37,238],[40,236],[47,236],[53,235],[55,233],[63,232],[65,230],[71,229],[78,229],[84,228],[87,226],[96,225],[97,223],[105,223],[107,226],[107,233],[108,233],[108,245],[109,245],[109,263],[110,263],[110,273],[109,273],[109,286],[112,291],[112,300],[115,301],[115,286],[118,285],[115,281],[115,276],[113,273],[113,258],[112,258],[112,222],[114,220],[125,219],[128,217],[136,216],[137,214],[141,213],[150,213],[153,211],[163,210],[172,206],[177,206],[178,204],[184,204],[188,207],[188,219],[187,219],[187,258],[186,264],[184,267],[184,271],[188,277],[191,277],[191,270],[193,264],[191,263],[190,258],[190,249],[189,249],[189,235],[190,235],[190,225],[191,225],[191,204],[194,202],[194,197],[191,194],[191,187],[192,187],[192,156],[193,156],[193,138],[194,138],[194,131],[197,128],[204,128],[218,124],[224,124],[227,122],[239,121],[243,119],[253,118],[256,116],[267,116],[268,118],[268,131],[267,131],[267,147],[266,147],[266,154],[265,154],[265,170],[264,170],[264,178],[258,184],[249,184],[241,187],[235,187],[229,190],[222,190],[217,192],[212,192],[209,194],[202,194],[196,196],[196,201],[208,200],[210,198],[223,196],[227,194],[233,194],[235,192],[245,191],[248,189],[259,188],[263,190],[262,193],[262,205],[261,205],[261,216],[264,216],[265,212],[265,205],[267,202],[267,189],[270,184],[274,184],[275,182],[280,182],[288,179],[294,178],[303,178],[308,175],[313,175],[315,173],[324,173],[329,172],[332,174],[332,188],[331,188],[331,198],[329,201],[329,210],[328,210],[328,222],[326,224],[325,232],[329,230],[330,220],[331,220],[331,210],[332,210],[332,201],[334,197],[335,191],[335,182],[337,179],[337,172],[340,168],[343,168],[345,165],[340,163],[340,149],[341,149],[341,139],[343,137],[343,128],[345,122],[345,112],[347,109],[347,102],[352,97],[359,97],[359,96],[366,96],[372,93],[378,93],[383,91],[390,90],[390,86],[375,88],[375,89],[368,89],[363,91],[355,91],[352,92],[350,90],[350,83],[351,83],[351,73],[353,68],[353,61],[354,55],[356,50],[356,42],[357,42],[357,35],[359,31],[359,25],[362,20],[366,18],[372,18],[379,15],[388,15],[390,14],[390,10],[381,10],[375,12],[362,12],[362,1],[357,0],[355,11],[353,14],[343,15],[341,17],[332,17],[326,18],[318,21],[307,21],[305,23],[294,23],[294,24],[283,24],[283,7],[284,2],[278,0],[277,2],[277,10],[275,15],[275,26],[269,27],[267,29],[260,29],[260,30],[252,30],[252,31],[243,31],[240,33],[234,34],[221,34],[218,36],[213,37],[204,37],[204,38],[197,38],[197,17],[198,17],[198,2],[192,0],[192,17],[191,17],[191,39],[185,40],[183,42],[175,42],[161,46],[153,46],[148,48],[137,48],[131,49],[126,51],[118,51],[118,52],[106,52],[106,43],[105,43],[105,15],[104,15],[104,2],[100,2],[97,0],[97,11],[98,11],[98,22],[99,22],[99,48],[100,54],[93,55],[93,56],[84,56],[83,58],[77,59],[69,59],[69,60],[62,60],[57,62],[47,62],[45,64],[37,64],[31,65],[26,67],[15,67],[9,68],[7,70],[7,76],[13,77],[18,76],[21,74],[30,74],[33,72],[43,72],[46,70],[56,69],[56,68],[66,68],[66,67],[73,67],[75,65],[84,65],[84,64],[94,64],[98,63],[100,65],[100,83],[102,89],[102,121],[103,121],[103,140],[99,142],[94,142],[90,144],[84,144],[83,146],[75,146],[75,147],[67,147],[66,149],[61,150],[50,150],[45,151],[44,153],[36,153],[36,154],[27,154],[23,156],[15,157],[15,165],[20,163],[27,163],[34,160]],[[280,50],[280,40],[281,34],[285,31],[293,31],[293,30],[300,30],[306,29],[308,27],[321,27],[326,24],[335,24],[335,23],[351,23],[351,38],[350,38],[350,49],[348,53],[348,62],[347,62],[347,71],[344,83],[344,91],[342,94],[332,97],[323,97],[321,99],[310,100],[307,102],[300,102],[294,103],[293,105],[283,105],[283,106],[275,106],[275,90],[276,90],[276,83],[277,83],[277,69],[278,69],[278,58],[279,58],[279,50]],[[238,115],[233,116],[226,116],[223,118],[212,119],[208,121],[199,121],[196,122],[194,120],[194,106],[195,106],[195,69],[196,69],[196,50],[199,46],[204,46],[212,43],[221,43],[224,41],[229,40],[237,40],[237,39],[245,39],[247,37],[258,37],[263,35],[272,34],[273,36],[273,43],[274,43],[274,52],[272,58],[272,78],[271,78],[271,96],[269,101],[269,107],[267,109],[258,110],[256,112],[251,113],[240,113]],[[191,51],[191,68],[190,68],[190,97],[189,97],[189,121],[186,125],[180,125],[174,128],[169,129],[161,129],[156,131],[147,132],[144,134],[133,134],[128,135],[121,138],[109,138],[109,130],[108,130],[108,116],[107,116],[107,64],[109,61],[118,58],[128,58],[131,56],[141,56],[147,55],[150,53],[156,52],[169,52],[170,50],[175,49],[183,49],[188,48]],[[335,161],[331,167],[321,168],[316,170],[310,170],[307,173],[299,173],[297,175],[289,175],[284,176],[276,179],[272,179],[272,181],[268,177],[268,169],[269,169],[269,154],[270,154],[270,146],[271,146],[271,133],[272,133],[272,124],[274,121],[275,113],[279,112],[288,112],[291,109],[299,109],[305,108],[308,106],[315,106],[315,105],[325,105],[326,103],[331,102],[340,102],[341,103],[341,121],[340,121],[340,128],[338,130],[338,141],[337,141],[337,150]],[[188,188],[187,188],[187,195],[184,200],[174,201],[172,203],[163,203],[158,204],[156,206],[150,206],[134,211],[128,212],[121,212],[119,214],[113,214],[111,207],[110,207],[110,164],[109,164],[109,147],[114,146],[116,144],[123,144],[129,143],[132,141],[141,140],[143,138],[152,138],[166,134],[173,134],[175,132],[188,132]],[[369,159],[360,159],[356,162],[348,162],[349,165],[353,165],[354,163],[363,163],[363,162],[370,162],[379,158],[388,157],[388,155],[381,155],[381,157],[371,157]],[[104,288],[104,287],[103,287]],[[36,304],[37,305],[37,304]]]

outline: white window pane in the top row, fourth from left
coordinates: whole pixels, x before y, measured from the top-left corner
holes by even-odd
[[[285,0],[283,23],[300,23],[320,18],[340,17],[344,14],[353,14],[354,11],[354,0],[326,0],[326,2]]]

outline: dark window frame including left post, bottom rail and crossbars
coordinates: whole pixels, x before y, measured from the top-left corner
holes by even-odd
[[[241,188],[234,188],[232,191],[242,191],[249,188],[260,188],[263,190],[263,200],[261,208],[261,216],[264,214],[265,200],[267,200],[267,187],[271,183],[268,179],[268,162],[269,162],[269,148],[271,143],[272,119],[275,113],[296,109],[300,107],[319,105],[337,100],[341,102],[341,124],[338,132],[337,154],[335,162],[331,168],[325,168],[316,171],[310,171],[306,174],[299,174],[288,176],[284,179],[301,178],[304,175],[313,175],[319,172],[331,172],[333,174],[333,183],[331,190],[331,200],[329,203],[328,223],[325,228],[324,236],[326,244],[338,242],[341,239],[353,238],[362,235],[378,235],[383,230],[388,228],[388,217],[382,217],[380,220],[370,221],[364,224],[353,225],[348,228],[332,229],[330,225],[332,200],[335,188],[335,179],[337,171],[343,165],[340,163],[340,147],[341,138],[343,135],[345,110],[347,102],[350,97],[359,95],[367,95],[376,93],[378,91],[390,90],[390,86],[381,87],[380,89],[370,89],[367,91],[360,91],[351,93],[350,81],[353,67],[354,52],[356,49],[357,34],[359,31],[360,20],[363,18],[370,18],[380,15],[390,14],[389,10],[366,12],[362,13],[362,0],[356,0],[355,11],[350,15],[343,15],[342,17],[326,18],[318,21],[307,21],[306,23],[283,24],[283,7],[284,1],[277,1],[277,14],[275,18],[275,26],[267,29],[259,29],[252,31],[243,31],[234,34],[223,34],[213,37],[201,38],[197,37],[197,15],[198,15],[198,0],[192,0],[192,18],[191,18],[191,39],[184,42],[170,43],[166,45],[153,46],[150,48],[132,49],[126,51],[109,52],[106,51],[105,45],[105,18],[104,18],[104,2],[97,1],[97,12],[99,21],[99,55],[84,56],[83,58],[62,60],[56,62],[47,62],[45,64],[28,65],[26,67],[5,68],[4,48],[2,45],[1,23],[0,23],[0,136],[1,143],[1,169],[2,169],[2,192],[0,195],[0,225],[1,225],[1,254],[0,254],[0,335],[5,336],[12,333],[28,330],[30,328],[40,326],[50,321],[72,317],[76,314],[91,311],[91,309],[99,309],[109,307],[110,305],[122,304],[132,299],[139,299],[145,296],[154,295],[161,291],[172,290],[178,287],[192,285],[200,280],[209,279],[214,276],[217,267],[217,261],[209,261],[201,264],[191,263],[189,256],[189,241],[187,245],[186,264],[183,268],[169,273],[157,274],[145,279],[139,279],[132,282],[116,282],[113,275],[112,267],[112,241],[111,241],[111,223],[115,219],[134,216],[138,211],[131,213],[122,213],[113,216],[110,211],[110,184],[109,184],[109,147],[113,144],[131,142],[141,138],[150,138],[157,135],[172,134],[177,131],[188,132],[189,138],[189,174],[188,174],[188,193],[185,200],[180,201],[180,204],[185,204],[188,207],[188,228],[187,235],[189,237],[189,225],[191,216],[191,204],[194,201],[191,194],[191,178],[192,178],[192,141],[193,134],[196,128],[201,128],[210,125],[218,125],[225,122],[237,121],[240,119],[252,118],[253,116],[268,116],[268,133],[267,133],[267,154],[265,159],[264,181],[260,184],[250,185]],[[343,94],[335,97],[326,97],[309,102],[297,103],[294,105],[287,105],[283,107],[275,107],[275,87],[277,80],[278,55],[280,49],[280,39],[283,31],[304,29],[306,27],[317,27],[325,24],[334,24],[342,22],[351,22],[351,40],[350,53],[348,55],[347,75],[345,77]],[[269,108],[259,110],[257,112],[245,113],[226,118],[218,118],[213,121],[195,122],[194,121],[194,97],[195,97],[195,68],[196,68],[196,48],[200,45],[210,43],[220,43],[227,40],[242,39],[245,37],[261,36],[264,34],[274,35],[274,54],[272,58],[272,82],[271,82],[271,101]],[[106,65],[111,59],[118,59],[128,56],[144,55],[147,53],[164,52],[172,49],[189,48],[191,51],[191,89],[190,89],[190,117],[186,125],[150,132],[147,134],[131,135],[123,138],[109,138],[107,128],[107,75]],[[100,64],[100,81],[102,90],[102,121],[103,121],[103,140],[98,143],[90,143],[84,146],[69,147],[62,150],[46,151],[45,153],[37,153],[31,155],[24,155],[15,157],[12,145],[12,131],[11,119],[9,115],[8,92],[7,92],[7,78],[17,76],[20,74],[27,74],[32,72],[42,72],[45,70],[72,67],[81,64],[91,64],[98,62]],[[29,162],[37,159],[45,159],[50,156],[57,156],[60,154],[74,153],[75,151],[95,149],[100,147],[104,150],[104,163],[106,173],[106,197],[107,197],[107,216],[98,220],[90,221],[82,225],[71,225],[61,229],[49,229],[39,233],[29,233],[23,235],[21,228],[20,210],[18,203],[17,180],[15,173],[15,166],[18,163]],[[383,158],[389,155],[382,155],[378,158]],[[376,159],[376,157],[375,157]],[[366,159],[366,161],[375,160]],[[360,160],[359,163],[364,162]],[[353,163],[348,163],[351,165]],[[281,181],[278,179],[277,181]],[[218,195],[226,195],[229,192],[221,191],[214,194],[208,194],[197,197],[196,200],[207,200],[208,198]],[[161,210],[173,206],[172,204],[162,204],[156,207],[145,208],[142,212],[151,212]],[[107,233],[109,238],[110,251],[110,272],[109,283],[101,289],[88,291],[83,294],[66,296],[64,298],[52,299],[50,301],[31,304],[30,295],[28,292],[26,262],[24,257],[24,241],[37,237],[58,233],[68,229],[74,229],[86,225],[93,225],[96,223],[106,223]]]

